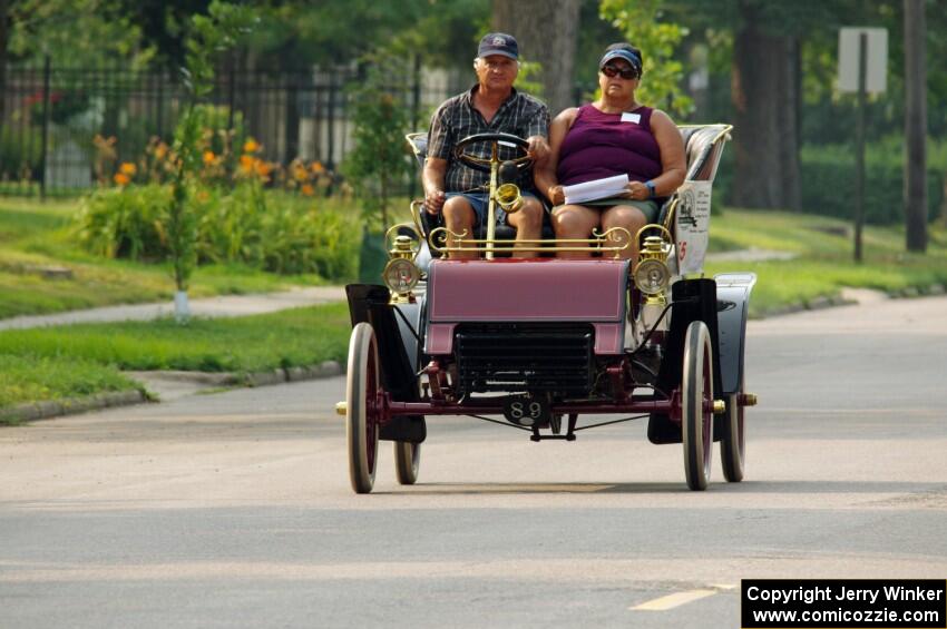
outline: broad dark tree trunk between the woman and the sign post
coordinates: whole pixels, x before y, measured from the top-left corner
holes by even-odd
[[[799,209],[799,41],[764,32],[753,7],[740,3],[733,45],[732,98],[736,177],[733,203]]]

